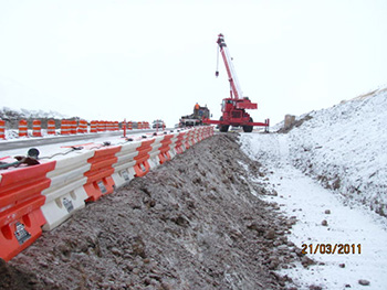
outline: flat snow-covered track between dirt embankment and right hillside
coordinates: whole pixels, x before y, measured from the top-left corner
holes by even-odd
[[[317,261],[308,268],[295,265],[281,273],[290,276],[301,289],[311,284],[322,289],[387,289],[386,218],[362,206],[345,205],[339,194],[295,169],[287,138],[276,133],[241,136],[242,149],[266,171],[266,176],[258,182],[265,182],[278,193],[264,198],[276,202],[287,216],[296,217],[289,238],[300,248],[306,245],[307,256]],[[326,254],[335,245],[335,254]],[[338,254],[339,249],[343,254]],[[367,281],[368,286],[362,284]]]

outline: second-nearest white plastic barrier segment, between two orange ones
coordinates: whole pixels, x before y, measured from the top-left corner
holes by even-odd
[[[114,173],[112,175],[116,189],[129,183],[135,178],[136,160],[134,158],[138,155],[137,148],[140,146],[142,141],[125,143],[116,153],[117,162],[113,164]]]

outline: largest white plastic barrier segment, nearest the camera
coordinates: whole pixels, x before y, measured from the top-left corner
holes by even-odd
[[[48,173],[51,184],[42,191],[45,203],[41,210],[46,221],[43,230],[55,228],[85,206],[88,196],[83,189],[87,182],[84,173],[90,170],[87,159],[93,155],[94,151],[76,151],[71,157],[56,160],[55,169]]]

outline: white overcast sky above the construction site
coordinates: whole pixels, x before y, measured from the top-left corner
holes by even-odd
[[[88,120],[220,117],[224,34],[257,121],[387,84],[386,0],[0,0],[0,107]]]

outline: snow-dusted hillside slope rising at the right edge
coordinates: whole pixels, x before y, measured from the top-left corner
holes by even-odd
[[[348,203],[386,216],[387,89],[312,111],[305,119],[289,132],[294,165]]]

